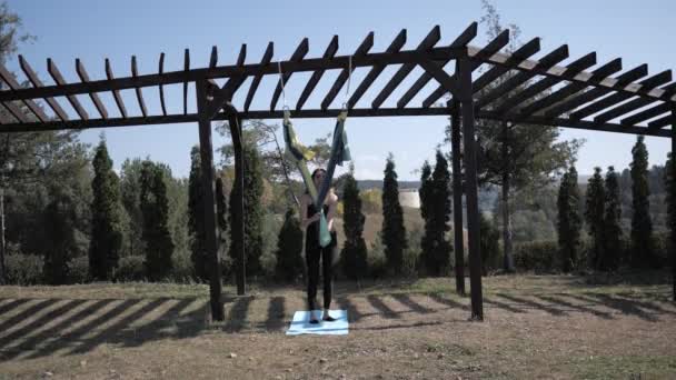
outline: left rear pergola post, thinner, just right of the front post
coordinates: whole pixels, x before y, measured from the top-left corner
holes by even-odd
[[[228,123],[230,124],[230,136],[232,137],[232,147],[235,148],[235,191],[230,197],[237,197],[232,203],[233,210],[230,210],[233,216],[232,226],[230,226],[230,228],[237,229],[237,239],[241,242],[235,248],[239,251],[239,257],[236,260],[235,277],[237,281],[237,294],[243,296],[247,292],[247,272],[245,257],[245,166],[241,141],[241,119],[237,114],[229,114]]]

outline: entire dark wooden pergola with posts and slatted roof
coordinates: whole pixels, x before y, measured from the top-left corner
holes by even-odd
[[[337,56],[338,37],[334,37],[319,58],[306,58],[308,39],[304,39],[287,60],[274,61],[274,44],[270,42],[257,63],[246,63],[247,47],[242,46],[237,62],[219,64],[216,47],[211,51],[209,64],[191,68],[189,51],[186,50],[185,67],[180,71],[165,72],[165,54],[159,58],[157,73],[139,74],[136,57],[131,58],[131,76],[115,78],[110,62],[106,60],[106,79],[89,78],[80,60],[76,69],[80,82],[68,83],[54,62],[47,60],[48,71],[54,84],[46,86],[19,56],[21,71],[32,87],[23,88],[16,77],[0,67],[0,78],[9,89],[0,91],[0,103],[10,118],[0,120],[1,132],[24,132],[59,129],[108,128],[121,126],[148,126],[163,123],[197,122],[205,182],[205,222],[207,226],[207,249],[211,268],[210,296],[211,314],[215,320],[223,319],[221,282],[218,262],[218,240],[215,202],[215,173],[211,144],[211,121],[227,120],[235,147],[235,190],[242,194],[243,166],[241,123],[246,119],[279,119],[282,117],[279,97],[282,83],[278,81],[267,109],[251,109],[251,101],[265,76],[279,76],[284,82],[294,73],[311,72],[302,92],[291,109],[292,118],[329,118],[340,112],[332,107],[335,99],[350,76],[350,69],[367,68],[368,73],[357,86],[347,101],[349,116],[355,117],[402,117],[444,116],[451,118],[451,149],[460,151],[460,130],[464,152],[453,154],[454,222],[463,226],[461,196],[467,197],[467,229],[469,249],[469,277],[471,287],[471,317],[481,320],[481,256],[479,252],[479,209],[477,190],[477,144],[475,119],[498,120],[508,123],[527,123],[554,127],[579,128],[593,131],[608,131],[630,134],[647,134],[672,139],[672,151],[676,144],[676,82],[670,70],[648,77],[647,64],[623,71],[622,60],[597,64],[596,53],[568,59],[566,44],[533,58],[540,50],[540,40],[535,38],[513,53],[500,50],[509,42],[508,31],[484,47],[470,46],[477,36],[477,23],[471,23],[450,43],[439,43],[440,28],[435,27],[415,49],[404,49],[406,30],[401,30],[382,52],[371,52],[374,33],[369,33],[351,54]],[[455,64],[448,64],[450,62]],[[360,102],[367,90],[386,68],[398,69],[389,81],[377,92],[370,104]],[[448,66],[448,67],[447,67]],[[486,70],[473,78],[473,72],[484,66]],[[398,86],[411,71],[420,67],[422,73],[401,96],[396,107],[382,107]],[[327,70],[340,70],[330,90],[318,108],[306,108],[306,101]],[[508,76],[508,77],[503,77]],[[243,104],[233,104],[232,98],[242,84],[252,78]],[[507,79],[506,79],[507,78]],[[227,79],[219,86],[215,79]],[[505,79],[505,80],[500,80]],[[499,84],[491,86],[496,80]],[[420,104],[411,100],[434,81],[436,88]],[[196,87],[197,112],[188,113],[188,86]],[[182,84],[182,110],[168,110],[165,104],[163,86]],[[486,88],[491,88],[486,91]],[[130,116],[120,97],[120,90],[133,89],[141,116]],[[481,91],[485,90],[485,91]],[[117,112],[109,112],[99,93],[112,92]],[[161,114],[149,114],[146,94],[159,96]],[[516,92],[516,94],[514,94]],[[437,106],[446,94],[450,100]],[[98,114],[90,116],[76,96],[88,96]],[[66,97],[74,109],[77,118],[71,119],[54,99]],[[46,114],[36,100],[43,99],[53,116]],[[115,113],[115,114],[113,114]],[[670,126],[669,129],[665,127]],[[537,127],[534,127],[537,128]],[[464,161],[465,179],[460,178]],[[243,202],[235,201],[235,233],[243,239]],[[463,232],[456,228],[455,254],[458,291],[464,292]],[[241,241],[241,240],[240,240]],[[245,251],[241,247],[236,260],[237,292],[246,292]]]

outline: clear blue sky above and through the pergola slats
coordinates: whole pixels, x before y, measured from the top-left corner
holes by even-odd
[[[68,81],[78,81],[74,59],[80,58],[92,79],[105,78],[105,58],[111,60],[116,76],[130,74],[130,59],[137,56],[141,73],[155,73],[161,52],[166,53],[166,70],[180,70],[183,49],[190,49],[192,67],[205,67],[212,46],[218,47],[219,63],[232,63],[242,43],[247,43],[247,62],[260,60],[268,41],[275,42],[275,60],[290,57],[304,37],[309,38],[307,57],[319,57],[334,34],[338,34],[339,54],[349,54],[369,31],[375,32],[371,51],[382,51],[400,29],[407,29],[406,48],[415,48],[436,24],[441,27],[439,44],[447,44],[471,21],[483,14],[476,1],[91,1],[91,0],[10,0],[9,7],[23,19],[24,30],[38,37],[37,41],[22,46],[20,52],[33,69],[51,83],[46,60],[52,58]],[[676,50],[676,3],[672,1],[506,1],[494,4],[504,23],[517,23],[523,40],[543,38],[543,52],[563,43],[570,48],[570,59],[596,51],[599,63],[622,57],[624,69],[640,63],[649,64],[650,74],[674,69]],[[486,28],[479,28],[475,42],[485,42]],[[537,57],[537,56],[536,56]],[[8,62],[17,72],[17,60]],[[365,96],[361,106],[369,104],[379,88],[396,68],[387,69]],[[395,104],[417,78],[416,69],[400,88],[385,102]],[[357,70],[352,90],[365,70]],[[318,104],[337,72],[325,74],[308,106]],[[296,74],[287,86],[289,106],[296,100],[309,74]],[[268,107],[277,78],[264,79],[252,109]],[[247,81],[235,98],[236,106],[243,104]],[[345,89],[344,89],[345,90]],[[160,113],[157,90],[143,90],[151,113]],[[180,86],[168,88],[166,93],[170,111],[182,111]],[[422,92],[431,91],[427,87]],[[193,90],[189,93],[189,110],[195,110]],[[128,111],[140,114],[130,90],[123,91]],[[416,104],[422,96],[414,99]],[[109,111],[117,108],[109,93],[102,94]],[[344,92],[335,104],[342,102]],[[97,114],[88,98],[80,98],[90,114]],[[281,101],[281,100],[280,100]],[[62,106],[72,113],[69,104]],[[279,122],[279,120],[269,120]],[[355,158],[358,179],[381,178],[385,158],[394,152],[399,178],[416,179],[425,159],[434,158],[435,147],[443,141],[447,119],[434,118],[378,118],[349,119],[347,123],[350,149]],[[334,121],[329,119],[297,120],[300,139],[311,142],[330,133]],[[96,143],[100,129],[82,132],[81,140]],[[107,129],[110,153],[119,168],[125,158],[150,157],[168,163],[176,176],[189,171],[190,147],[198,142],[197,126],[191,123],[129,127]],[[578,171],[590,173],[595,166],[625,168],[630,161],[635,137],[618,133],[587,132],[564,129],[563,139],[586,139],[578,156]],[[223,139],[215,136],[215,144]],[[667,139],[647,138],[650,164],[664,163],[669,149]],[[444,147],[444,149],[447,149]]]

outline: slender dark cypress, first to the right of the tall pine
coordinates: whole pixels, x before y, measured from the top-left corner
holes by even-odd
[[[558,247],[561,270],[569,272],[577,263],[580,244],[581,217],[579,214],[579,187],[577,170],[570,167],[561,178],[558,199]]]

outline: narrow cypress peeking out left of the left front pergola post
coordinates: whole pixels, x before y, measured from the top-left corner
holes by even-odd
[[[207,231],[205,229],[205,206],[202,190],[202,169],[199,147],[190,151],[190,177],[188,178],[188,228],[190,231],[190,260],[195,276],[209,281],[207,260]]]

